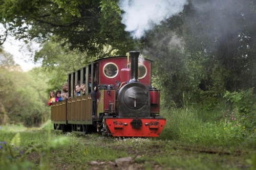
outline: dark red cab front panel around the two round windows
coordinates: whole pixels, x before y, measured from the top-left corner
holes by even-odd
[[[139,58],[138,62],[142,63],[145,65],[146,69],[147,69],[147,75],[143,78],[143,79],[139,79],[139,82],[141,82],[144,85],[150,85],[151,84],[151,62],[147,61],[147,60],[143,60],[141,58]],[[107,78],[104,76],[103,74],[103,67],[106,63],[115,63],[118,66],[118,75],[115,78]],[[130,60],[131,63],[131,60]],[[116,85],[115,81],[119,81],[122,83],[121,81],[121,69],[125,68],[125,66],[127,65],[127,57],[115,57],[115,58],[106,58],[103,60],[99,61],[99,84],[113,84]],[[129,80],[131,75],[128,75]]]

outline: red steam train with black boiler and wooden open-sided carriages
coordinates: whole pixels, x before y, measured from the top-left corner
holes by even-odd
[[[71,98],[51,105],[54,130],[120,137],[160,135],[166,119],[159,115],[160,90],[151,85],[153,61],[140,58],[139,52],[129,54],[98,59],[69,74]],[[84,95],[75,95],[78,83],[86,84]],[[97,101],[93,109],[94,89]]]

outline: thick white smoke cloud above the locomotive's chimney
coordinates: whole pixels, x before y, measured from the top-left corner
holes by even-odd
[[[187,4],[188,0],[120,0],[118,6],[124,11],[125,31],[139,39],[161,21],[177,15]]]

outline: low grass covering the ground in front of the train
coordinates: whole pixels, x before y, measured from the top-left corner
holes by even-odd
[[[14,133],[0,131],[0,140],[12,138]],[[9,134],[9,135],[8,135]],[[200,145],[185,145],[177,140],[158,138],[103,138],[97,134],[86,136],[71,133],[61,134],[52,130],[20,132],[21,145],[28,152],[26,160],[33,163],[31,169],[91,169],[91,161],[106,162],[98,168],[121,169],[108,162],[120,157],[141,156],[131,164],[134,168],[155,169],[240,169],[251,167],[253,150],[243,148],[237,155],[230,148],[210,147],[215,154],[200,152]],[[199,148],[198,148],[199,147]],[[190,148],[191,150],[187,150]],[[221,154],[221,152],[230,154]],[[1,160],[2,161],[2,160]],[[20,162],[19,164],[22,164]],[[26,162],[27,163],[27,162]],[[16,163],[16,165],[18,165]],[[1,167],[0,167],[1,169]]]

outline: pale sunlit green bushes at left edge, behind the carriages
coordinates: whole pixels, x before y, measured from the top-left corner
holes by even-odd
[[[4,51],[0,61],[0,124],[39,126],[50,111],[44,74],[40,68],[23,72]]]

